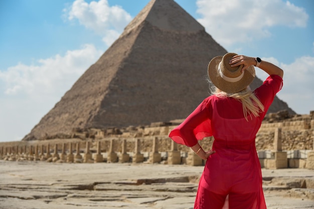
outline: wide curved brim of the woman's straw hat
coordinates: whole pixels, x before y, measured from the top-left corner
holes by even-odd
[[[213,84],[220,90],[227,93],[236,93],[246,88],[254,80],[255,68],[250,65],[244,70],[244,75],[241,80],[237,82],[229,82],[224,80],[218,71],[219,63],[223,56],[214,57],[208,64],[208,76]]]

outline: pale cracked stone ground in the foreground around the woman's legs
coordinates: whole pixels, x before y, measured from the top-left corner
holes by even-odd
[[[0,160],[0,208],[193,208],[202,171],[188,165]],[[314,208],[314,170],[262,173],[268,208]]]

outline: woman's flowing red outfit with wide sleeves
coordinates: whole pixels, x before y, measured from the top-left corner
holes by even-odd
[[[281,87],[281,77],[270,75],[254,90],[265,108],[258,117],[252,116],[251,119],[249,116],[246,121],[239,100],[211,95],[170,132],[169,136],[174,141],[187,146],[195,145],[205,136],[213,135],[215,138],[213,150],[216,153],[210,155],[206,161],[195,208],[222,208],[224,202],[217,203],[217,199],[225,201],[227,195],[229,206],[225,204],[224,208],[266,208],[255,136]]]

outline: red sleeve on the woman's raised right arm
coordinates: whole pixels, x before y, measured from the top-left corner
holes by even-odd
[[[276,93],[281,90],[283,85],[282,78],[279,75],[269,75],[263,84],[254,90],[255,95],[259,98],[259,100],[264,105],[264,114],[265,116],[269,106]]]

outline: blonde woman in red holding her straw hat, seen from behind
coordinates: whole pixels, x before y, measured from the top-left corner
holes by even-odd
[[[251,91],[253,65],[269,76]],[[169,135],[207,159],[194,208],[266,208],[255,136],[282,87],[283,70],[258,57],[227,53],[210,61],[208,74],[213,94]],[[214,136],[208,151],[198,143],[206,136]]]

